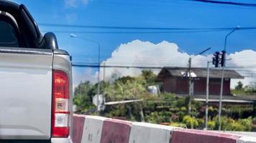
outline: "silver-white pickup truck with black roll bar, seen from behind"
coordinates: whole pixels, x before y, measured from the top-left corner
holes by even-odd
[[[55,35],[0,0],[0,142],[72,143],[72,70]]]

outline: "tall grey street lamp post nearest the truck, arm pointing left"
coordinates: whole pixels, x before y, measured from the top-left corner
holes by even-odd
[[[70,34],[70,37],[73,37],[73,38],[78,38],[78,39],[83,39],[83,40],[86,40],[86,41],[90,41],[90,42],[92,42],[92,43],[94,43],[94,44],[97,44],[97,46],[98,46],[98,64],[99,64],[99,69],[98,69],[98,71],[99,71],[99,73],[98,73],[98,89],[97,89],[97,92],[98,92],[98,95],[97,95],[97,109],[99,110],[99,94],[100,94],[100,70],[101,70],[101,60],[100,60],[100,58],[101,58],[101,44],[99,44],[99,42],[98,41],[93,41],[93,40],[91,40],[91,39],[86,39],[86,38],[84,38],[84,37],[80,37],[80,36],[77,36],[76,34]]]

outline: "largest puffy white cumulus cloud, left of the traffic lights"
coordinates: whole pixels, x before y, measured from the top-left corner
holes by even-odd
[[[178,46],[168,41],[152,44],[149,41],[134,40],[121,44],[101,65],[105,63],[111,66],[186,66],[188,58],[188,54],[178,52]],[[141,69],[101,68],[101,71],[104,71],[106,79],[111,79],[113,76],[134,76],[140,74]],[[159,69],[154,71],[157,73]]]

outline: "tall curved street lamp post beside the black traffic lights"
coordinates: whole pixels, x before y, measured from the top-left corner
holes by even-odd
[[[230,31],[229,34],[227,34],[225,36],[225,41],[224,41],[224,53],[226,54],[226,47],[227,47],[227,38],[229,37],[230,34],[232,34],[234,31],[236,31],[237,29],[239,29],[240,27],[237,26],[234,30]],[[224,69],[226,66],[226,56],[224,57],[224,64],[222,66],[222,70],[221,70],[221,92],[219,94],[219,131],[221,131],[221,108],[222,108],[222,94],[223,94],[223,82],[224,82]]]

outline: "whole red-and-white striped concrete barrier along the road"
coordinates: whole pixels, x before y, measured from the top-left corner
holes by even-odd
[[[73,142],[256,143],[256,137],[74,114]]]

